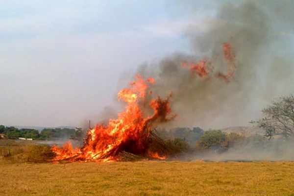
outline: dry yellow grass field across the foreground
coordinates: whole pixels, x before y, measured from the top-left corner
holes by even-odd
[[[294,162],[0,162],[1,196],[294,196]]]

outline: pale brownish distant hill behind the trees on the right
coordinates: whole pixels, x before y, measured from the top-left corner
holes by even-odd
[[[264,135],[265,132],[257,126],[230,126],[224,129],[221,129],[225,133],[238,133],[240,135],[250,136],[254,134]]]

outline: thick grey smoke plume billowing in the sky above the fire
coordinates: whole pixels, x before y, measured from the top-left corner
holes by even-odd
[[[288,8],[281,10],[289,6],[294,7],[292,1],[222,4],[216,17],[207,19],[204,32],[193,24],[185,30],[191,41],[189,54],[175,53],[139,68],[140,74],[156,80],[153,95],[173,92],[172,111],[178,117],[172,126],[246,125],[272,98],[292,93],[293,58],[287,55],[291,49],[281,47],[287,45],[285,36],[293,36],[294,22],[289,18],[294,14]],[[210,79],[192,77],[181,66],[205,58],[212,61],[214,73],[225,74],[223,43],[230,43],[236,55],[237,68],[229,83],[215,74]]]

